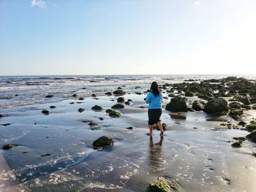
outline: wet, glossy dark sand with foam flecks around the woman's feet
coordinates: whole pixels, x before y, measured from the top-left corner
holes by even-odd
[[[116,104],[110,101],[116,96],[2,109],[7,117],[0,124],[10,126],[0,126],[0,145],[15,147],[0,152],[9,166],[1,170],[0,191],[146,191],[159,176],[176,180],[179,191],[255,191],[256,161],[251,153],[256,145],[246,141],[234,149],[227,142],[248,132],[219,128],[221,122],[206,121],[204,112],[187,112],[187,120],[175,120],[163,110],[167,131],[161,138],[154,130],[149,139],[147,109],[140,108],[146,106],[145,96],[126,94],[132,104],[119,110],[121,118],[105,113]],[[75,104],[69,104],[72,101]],[[104,110],[92,111],[95,104]],[[85,111],[78,112],[80,107]],[[43,115],[44,109],[50,115]],[[248,114],[247,120],[255,118],[255,110]],[[91,130],[83,120],[94,120],[100,129]],[[92,143],[103,135],[112,137],[114,145],[94,150]],[[7,180],[9,187],[3,182]]]

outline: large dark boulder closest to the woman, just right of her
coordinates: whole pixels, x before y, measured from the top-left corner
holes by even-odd
[[[189,110],[187,99],[181,96],[176,96],[173,99],[170,99],[170,103],[166,105],[165,110],[171,112],[187,112]]]

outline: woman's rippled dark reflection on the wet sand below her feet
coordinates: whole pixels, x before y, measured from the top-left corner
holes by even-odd
[[[157,172],[165,169],[166,161],[162,154],[162,142],[164,140],[163,136],[160,136],[160,141],[154,143],[153,137],[149,139],[149,171]]]

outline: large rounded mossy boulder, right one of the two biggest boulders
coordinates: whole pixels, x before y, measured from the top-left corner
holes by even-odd
[[[228,111],[227,101],[222,98],[211,99],[207,102],[203,111],[210,114]]]

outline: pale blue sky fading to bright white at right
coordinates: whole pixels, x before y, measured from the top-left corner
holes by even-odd
[[[256,74],[255,0],[0,0],[0,75]]]

